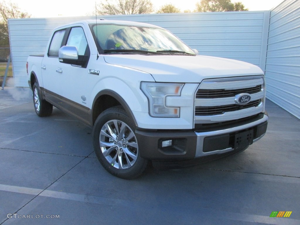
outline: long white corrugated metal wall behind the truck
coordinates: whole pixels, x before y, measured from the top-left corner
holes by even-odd
[[[101,16],[164,27],[201,55],[238,59],[265,68],[269,11]],[[52,29],[95,17],[9,19],[15,86],[28,86],[26,59],[44,54]]]

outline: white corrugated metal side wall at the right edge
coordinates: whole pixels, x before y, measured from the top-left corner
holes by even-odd
[[[300,119],[300,0],[271,10],[265,77],[267,98]]]

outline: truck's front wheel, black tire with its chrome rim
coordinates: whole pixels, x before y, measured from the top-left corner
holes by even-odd
[[[147,167],[135,136],[136,126],[121,107],[102,112],[93,128],[93,144],[101,165],[114,176],[134,179]]]

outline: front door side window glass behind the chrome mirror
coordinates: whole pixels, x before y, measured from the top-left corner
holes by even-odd
[[[68,46],[76,46],[78,55],[85,55],[85,50],[88,48],[83,29],[81,27],[73,27],[67,41]]]

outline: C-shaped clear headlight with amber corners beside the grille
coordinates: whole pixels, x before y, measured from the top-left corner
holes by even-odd
[[[149,101],[149,114],[153,117],[179,117],[179,107],[167,107],[167,96],[180,96],[183,84],[141,82],[141,90]]]

